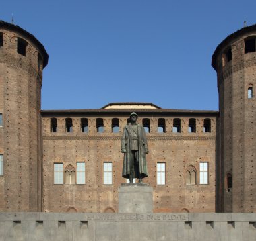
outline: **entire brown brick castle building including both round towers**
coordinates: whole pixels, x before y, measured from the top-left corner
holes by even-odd
[[[255,212],[255,36],[256,26],[243,28],[214,52],[220,111],[152,103],[41,111],[48,55],[32,34],[0,21],[0,211],[117,212],[127,181],[121,135],[135,111],[147,132],[143,181],[154,212]]]

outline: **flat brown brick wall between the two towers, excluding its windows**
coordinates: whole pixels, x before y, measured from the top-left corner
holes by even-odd
[[[77,211],[104,212],[117,211],[117,189],[126,180],[121,177],[123,154],[121,153],[121,132],[129,117],[129,112],[121,111],[109,115],[99,113],[88,116],[86,113],[75,117],[70,113],[57,117],[58,132],[50,132],[50,119],[56,113],[43,114],[43,173],[44,203],[43,211],[68,211],[74,207]],[[48,115],[48,116],[47,116]],[[188,133],[188,116],[179,116],[182,120],[182,132],[172,132],[172,119],[177,116],[169,114],[166,119],[166,133],[158,133],[157,119],[162,113],[139,114],[139,122],[144,117],[150,118],[151,130],[148,137],[150,154],[147,155],[149,177],[143,179],[154,188],[154,211],[215,211],[215,123],[212,119],[212,132],[203,132],[203,119],[207,116],[189,117],[197,119],[197,133]],[[65,118],[73,119],[73,133],[65,132]],[[80,131],[80,118],[87,117],[89,132]],[[104,133],[96,133],[96,117],[104,118]],[[111,132],[111,119],[119,118],[119,133]],[[60,123],[60,125],[59,125]],[[208,185],[199,184],[199,162],[209,162]],[[64,168],[76,162],[86,162],[85,185],[54,185],[53,164],[63,162]],[[113,185],[103,184],[103,162],[113,162]],[[166,185],[156,185],[156,163],[166,162]],[[185,185],[185,172],[189,165],[197,170],[197,184]]]

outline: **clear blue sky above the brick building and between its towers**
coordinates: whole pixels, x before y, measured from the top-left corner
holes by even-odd
[[[218,109],[218,44],[256,23],[256,1],[1,0],[0,19],[34,34],[49,54],[42,109],[151,102]]]

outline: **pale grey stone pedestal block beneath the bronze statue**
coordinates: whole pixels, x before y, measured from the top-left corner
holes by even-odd
[[[119,213],[152,213],[153,188],[145,183],[121,183]]]

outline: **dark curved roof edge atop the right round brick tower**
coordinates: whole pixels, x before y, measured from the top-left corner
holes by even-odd
[[[220,52],[220,50],[222,50],[222,48],[228,44],[228,42],[231,42],[234,38],[236,38],[239,35],[243,35],[243,34],[247,34],[249,32],[253,32],[256,30],[256,24],[251,25],[251,26],[247,26],[244,28],[241,28],[240,30],[237,30],[236,32],[230,34],[228,37],[226,37],[216,48],[216,50],[214,51],[214,54],[212,54],[212,67],[214,68],[214,70],[217,71],[217,66],[216,66],[216,60],[217,60],[217,56]]]

